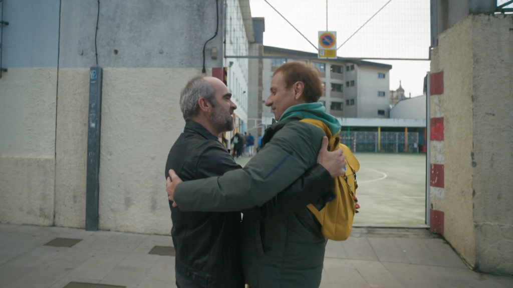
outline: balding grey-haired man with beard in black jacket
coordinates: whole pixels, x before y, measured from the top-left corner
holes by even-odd
[[[237,108],[226,85],[217,78],[195,77],[180,95],[180,108],[185,129],[169,152],[165,177],[169,177],[170,169],[184,181],[241,169],[218,139],[221,133],[233,130],[232,114]],[[326,147],[327,139],[318,164],[262,207],[243,211],[244,215],[276,219],[332,193],[332,177],[338,176],[345,162]],[[244,287],[241,212],[186,212],[175,207],[173,201],[169,201],[169,207],[176,286]]]

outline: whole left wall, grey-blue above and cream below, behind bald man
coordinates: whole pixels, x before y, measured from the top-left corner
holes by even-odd
[[[4,27],[2,51],[9,71],[0,79],[2,223],[84,227],[89,67],[96,65],[98,7],[94,0],[71,0],[60,11],[59,4],[4,4],[10,25]],[[177,99],[187,80],[201,74],[203,45],[215,32],[215,1],[100,5],[100,228],[169,234],[163,173],[183,131]],[[207,44],[207,75],[223,64],[222,2],[219,11],[218,36]],[[218,48],[217,59],[210,57],[212,47]]]

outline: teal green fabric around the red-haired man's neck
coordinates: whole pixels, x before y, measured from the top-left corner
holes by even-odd
[[[324,108],[320,102],[291,106],[287,108],[285,112],[283,112],[283,115],[280,117],[279,121],[288,118],[321,120],[329,127],[332,135],[337,135],[341,128],[339,120],[326,113],[326,108]]]

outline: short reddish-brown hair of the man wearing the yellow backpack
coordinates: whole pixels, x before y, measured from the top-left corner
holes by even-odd
[[[278,67],[272,76],[282,72],[285,87],[289,89],[294,83],[300,81],[304,84],[303,98],[307,103],[319,101],[323,94],[319,70],[313,65],[306,65],[303,62],[294,61]]]

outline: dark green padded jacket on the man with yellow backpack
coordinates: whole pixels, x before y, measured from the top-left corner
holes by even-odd
[[[289,122],[243,169],[180,183],[174,200],[184,211],[227,212],[260,206],[317,162],[324,135],[313,125]],[[270,222],[244,217],[242,229],[243,269],[250,287],[319,286],[325,239],[306,207]]]

